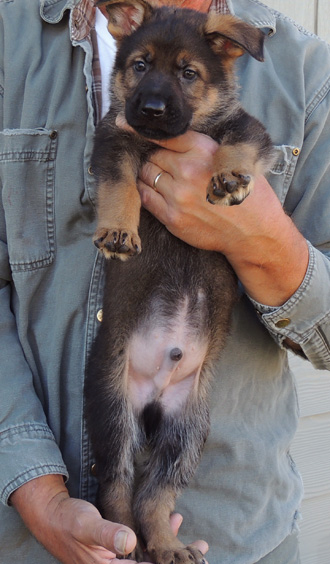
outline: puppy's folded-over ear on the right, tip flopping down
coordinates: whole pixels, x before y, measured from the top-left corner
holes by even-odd
[[[204,33],[212,49],[223,57],[234,60],[246,51],[257,61],[264,60],[264,34],[235,16],[209,14]]]

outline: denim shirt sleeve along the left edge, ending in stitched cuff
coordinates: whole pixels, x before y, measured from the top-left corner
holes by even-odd
[[[0,72],[0,125],[2,99]],[[11,303],[12,276],[0,198],[0,499],[3,503],[8,503],[11,493],[33,478],[45,474],[67,477],[60,450],[34,389]]]

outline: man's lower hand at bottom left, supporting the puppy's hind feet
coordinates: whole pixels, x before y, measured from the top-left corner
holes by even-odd
[[[18,488],[11,503],[36,539],[63,564],[132,564],[118,559],[135,547],[134,532],[123,525],[102,519],[90,503],[70,498],[62,476],[42,476]],[[171,518],[177,531],[182,518]],[[204,541],[195,543],[203,552]]]

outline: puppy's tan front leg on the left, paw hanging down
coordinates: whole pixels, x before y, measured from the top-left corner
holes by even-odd
[[[98,186],[98,224],[94,244],[106,258],[126,260],[141,252],[138,235],[141,201],[131,170],[120,181],[101,179]]]

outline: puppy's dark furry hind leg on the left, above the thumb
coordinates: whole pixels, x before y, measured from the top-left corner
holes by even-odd
[[[134,530],[134,455],[142,437],[122,385],[126,362],[120,356],[124,355],[115,360],[108,357],[106,369],[95,359],[91,362],[85,385],[86,418],[95,456],[102,516]]]

